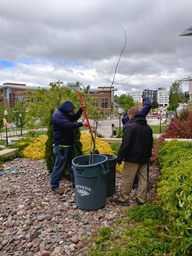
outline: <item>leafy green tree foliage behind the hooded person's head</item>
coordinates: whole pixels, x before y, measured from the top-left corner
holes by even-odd
[[[49,86],[49,89],[39,88],[35,91],[27,91],[28,114],[26,125],[30,129],[35,128],[37,124],[47,127],[50,110],[57,109],[66,100],[73,102],[76,109],[80,107],[77,91],[72,91],[64,86],[61,81],[52,82]],[[86,93],[82,94],[89,117],[94,120],[99,119],[98,108],[93,106],[93,99]]]

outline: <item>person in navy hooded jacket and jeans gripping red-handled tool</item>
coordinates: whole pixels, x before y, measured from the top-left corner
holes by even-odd
[[[72,169],[72,159],[76,156],[75,150],[75,129],[81,126],[88,126],[87,122],[77,121],[84,108],[73,113],[74,105],[71,101],[65,101],[52,116],[53,131],[53,152],[55,154],[55,164],[50,180],[50,187],[56,194],[63,194],[63,190],[59,188],[59,183],[63,175],[65,167],[68,167],[72,185],[74,187],[74,175]]]

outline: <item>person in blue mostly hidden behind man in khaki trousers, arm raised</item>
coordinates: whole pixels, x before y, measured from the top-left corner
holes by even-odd
[[[139,110],[139,114],[142,117],[146,118],[146,116],[148,115],[152,107],[152,104],[150,99],[145,97],[144,92],[142,93],[141,97],[142,97],[142,108]],[[124,117],[122,118],[122,123],[123,123],[123,133],[124,133],[126,127],[130,124],[128,112],[124,114]],[[148,175],[149,175],[149,165],[148,165]],[[133,183],[133,189],[136,189],[137,187],[138,187],[138,176],[136,175]]]

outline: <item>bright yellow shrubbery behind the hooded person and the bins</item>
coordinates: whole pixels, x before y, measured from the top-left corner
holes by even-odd
[[[45,157],[45,143],[47,141],[47,136],[41,136],[34,139],[28,147],[23,150],[23,155],[26,158],[32,158],[33,160],[44,159]],[[84,155],[90,154],[93,150],[93,144],[91,136],[88,133],[82,132],[80,141],[82,143],[82,152]],[[95,139],[95,149],[99,151],[99,154],[114,154],[114,151],[111,149],[110,145],[96,137]],[[122,165],[116,165],[116,171],[121,173]]]

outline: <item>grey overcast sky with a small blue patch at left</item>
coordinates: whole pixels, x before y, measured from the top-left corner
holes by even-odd
[[[169,89],[192,77],[192,36],[179,36],[191,12],[191,0],[0,0],[0,84]]]

